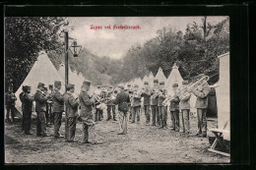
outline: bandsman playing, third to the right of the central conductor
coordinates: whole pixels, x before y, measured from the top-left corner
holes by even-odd
[[[157,95],[158,88],[159,88],[159,81],[154,80],[154,89],[151,91],[151,111],[152,111],[152,125],[153,126],[160,125],[159,107],[158,107],[159,96]],[[157,123],[156,123],[156,119],[157,119]]]

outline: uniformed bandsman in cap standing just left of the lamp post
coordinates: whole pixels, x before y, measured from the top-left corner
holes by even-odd
[[[62,135],[59,134],[59,129],[61,127],[61,119],[62,119],[62,112],[64,111],[64,96],[60,93],[61,89],[61,82],[55,81],[54,82],[54,89],[51,93],[52,99],[52,112],[54,114],[54,138],[63,138]],[[65,114],[65,139],[67,140],[67,115]]]

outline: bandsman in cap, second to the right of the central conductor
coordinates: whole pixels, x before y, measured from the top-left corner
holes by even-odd
[[[144,110],[146,116],[146,125],[149,125],[151,122],[150,106],[151,106],[151,90],[149,89],[149,83],[144,83],[144,91],[142,96],[144,97]]]

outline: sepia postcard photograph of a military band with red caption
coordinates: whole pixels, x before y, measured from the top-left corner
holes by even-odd
[[[5,163],[229,163],[229,17],[5,17]]]

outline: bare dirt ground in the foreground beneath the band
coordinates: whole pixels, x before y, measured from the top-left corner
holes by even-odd
[[[76,139],[65,142],[53,138],[53,126],[47,128],[50,137],[35,136],[35,119],[32,136],[21,131],[21,121],[5,124],[5,162],[7,163],[228,163],[225,157],[208,151],[208,138],[185,138],[169,129],[146,126],[144,113],[140,124],[128,123],[128,134],[118,136],[119,123],[103,121],[96,124],[97,139],[101,144],[83,144],[82,125],[77,124]],[[170,126],[170,115],[167,124]],[[197,118],[190,116],[191,133],[197,132]],[[217,119],[208,120],[208,128],[216,128]],[[64,135],[64,122],[60,133]],[[208,135],[213,136],[210,132]]]

